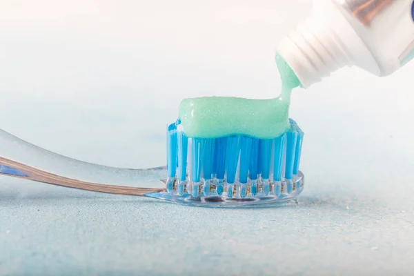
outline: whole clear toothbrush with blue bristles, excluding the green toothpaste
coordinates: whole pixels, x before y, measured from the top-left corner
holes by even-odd
[[[290,125],[290,130],[276,139],[202,139],[186,137],[177,121],[167,130],[167,166],[148,169],[113,168],[71,159],[0,130],[0,175],[195,206],[286,202],[304,188],[299,171],[303,132],[295,121],[290,120]]]

